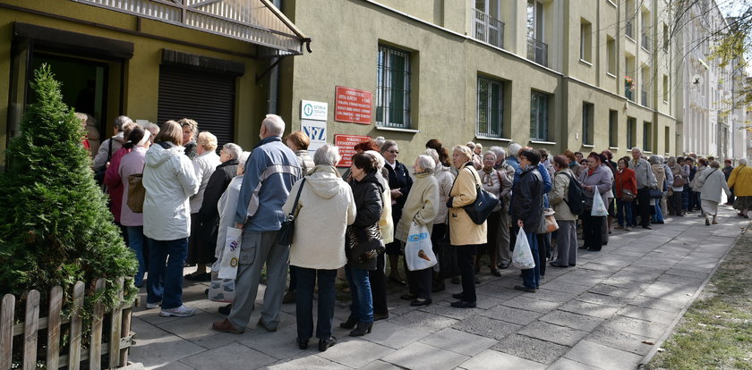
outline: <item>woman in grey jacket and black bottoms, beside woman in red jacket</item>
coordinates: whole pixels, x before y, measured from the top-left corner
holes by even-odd
[[[603,205],[608,202],[612,181],[611,170],[603,167],[605,156],[592,152],[587,156],[587,168],[580,173],[579,181],[585,189],[585,214],[582,214],[583,249],[599,251],[603,245],[602,227],[605,216],[591,214],[595,197],[601,197]]]

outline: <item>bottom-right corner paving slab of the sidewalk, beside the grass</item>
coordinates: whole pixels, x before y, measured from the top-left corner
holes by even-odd
[[[592,341],[580,341],[564,357],[586,365],[609,370],[632,370],[642,360],[642,356],[621,349],[613,349]]]

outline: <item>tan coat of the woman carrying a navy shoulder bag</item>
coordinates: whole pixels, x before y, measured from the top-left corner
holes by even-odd
[[[457,173],[457,181],[449,192],[452,199],[452,207],[449,208],[449,240],[453,246],[485,244],[487,241],[488,223],[474,223],[462,208],[473,204],[477,196],[475,185],[480,183],[481,178],[472,164],[469,168],[467,164],[463,165]]]

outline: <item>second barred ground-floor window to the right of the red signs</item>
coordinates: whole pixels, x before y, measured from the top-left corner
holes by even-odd
[[[504,82],[478,76],[478,136],[501,138],[503,135]]]

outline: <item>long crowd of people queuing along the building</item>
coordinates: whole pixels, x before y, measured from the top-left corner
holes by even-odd
[[[147,274],[147,308],[193,315],[182,300],[183,279],[209,281],[209,269],[226,251],[227,231],[235,228],[242,231],[235,299],[219,308],[226,319],[212,329],[245,331],[264,270],[258,326],[275,332],[280,308],[295,302],[298,346],[306,349],[315,335],[324,351],[337,343],[338,276],[352,299],[339,326],[363,336],[375,321],[389,318],[388,282],[406,286],[399,299],[420,307],[431,305],[432,293],[445,290],[449,279],[461,284],[451,306],[476,307],[483,261],[501,276],[524,241],[518,236],[525,236],[534,267],[521,270],[515,289],[534,293],[547,266],[575,267],[579,249],[602,250],[614,230],[652,229],[695,210],[705,225],[716,224],[722,192],[740,217],[748,218],[752,208],[752,169],[745,159],[737,167],[726,160],[721,168],[713,157],[665,159],[645,156],[638,147],[621,158],[609,150],[553,156],[517,143],[483,151],[469,142],[448,150],[431,139],[408,167],[397,160],[395,141],[377,138],[355,145],[352,165],[340,173],[338,147],[323,145],[311,156],[303,132],[283,140],[284,131],[285,122],[269,114],[250,153],[227,143],[217,155],[217,138],[191,119],[159,128],[117,118],[115,135],[98,146],[93,169],[104,171],[115,223],[139,261],[136,286]],[[146,189],[142,213],[131,209],[127,191],[129,178],[139,173]],[[480,189],[499,202],[485,222],[476,223],[466,207]],[[295,215],[295,233],[286,245],[278,234],[288,214]],[[456,265],[408,268],[405,246],[414,225],[428,230],[435,256],[452,254],[448,261]],[[196,271],[183,276],[186,265]]]

